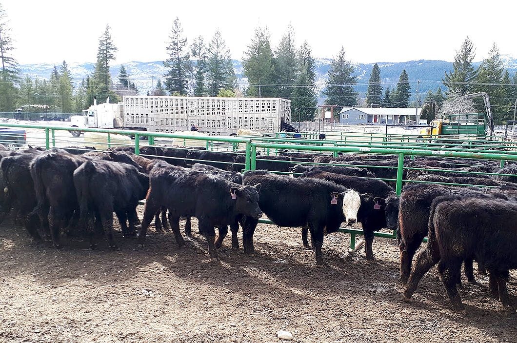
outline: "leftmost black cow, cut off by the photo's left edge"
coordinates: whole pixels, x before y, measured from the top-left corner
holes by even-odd
[[[39,232],[38,215],[32,213],[36,206],[36,196],[29,167],[36,156],[35,153],[11,154],[11,156],[2,158],[0,168],[5,180],[3,193],[9,197],[5,199],[4,208],[10,207],[12,204],[17,220],[22,223],[34,240],[40,241],[47,234]]]

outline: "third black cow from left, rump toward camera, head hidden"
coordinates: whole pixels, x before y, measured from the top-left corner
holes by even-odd
[[[73,184],[80,204],[81,226],[90,234],[90,248],[96,246],[91,217],[102,227],[113,249],[117,248],[112,232],[113,212],[117,214],[123,235],[135,235],[136,206],[149,188],[146,174],[126,163],[88,160],[73,172]]]

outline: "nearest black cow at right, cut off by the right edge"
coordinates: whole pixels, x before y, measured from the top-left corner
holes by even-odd
[[[490,290],[515,311],[506,287],[517,267],[517,203],[501,199],[441,197],[430,212],[429,243],[415,264],[403,295],[409,299],[418,281],[438,261],[438,271],[455,310],[462,310],[456,287],[461,262],[475,258],[489,271]]]

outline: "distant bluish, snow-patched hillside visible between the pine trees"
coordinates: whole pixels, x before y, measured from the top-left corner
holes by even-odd
[[[503,61],[505,62],[506,68],[510,71],[510,74],[514,74],[517,71],[517,58],[504,55]],[[327,79],[327,71],[330,67],[330,58],[316,58],[316,77],[318,91],[322,91]],[[59,66],[60,63],[41,63],[41,64],[29,64],[20,65],[20,72],[25,75],[28,74],[33,78],[48,79],[52,68]],[[156,81],[165,72],[165,67],[161,61],[155,62],[128,62],[124,63],[126,70],[131,75],[131,80],[134,81],[141,94],[147,93],[151,90],[153,79],[156,85]],[[384,82],[383,87],[389,86],[393,88],[396,86],[399,80],[400,73],[403,69],[406,69],[409,80],[421,80],[419,93],[425,94],[428,90],[436,90],[441,85],[442,78],[445,71],[452,69],[452,63],[446,61],[434,61],[429,59],[420,59],[419,61],[408,61],[408,62],[378,62],[381,67],[381,78]],[[475,64],[479,65],[479,62]],[[68,64],[72,78],[75,84],[81,82],[83,78],[86,78],[88,74],[92,74],[95,68],[95,63],[69,63]],[[243,74],[242,63],[237,60],[233,60],[233,66],[237,75],[237,80],[240,88],[246,88],[247,79]],[[354,64],[356,69],[356,75],[358,76],[358,85],[355,87],[361,98],[367,90],[368,79],[370,78],[370,72],[372,71],[373,63],[357,63]],[[120,65],[114,65],[110,67],[110,73],[114,82],[117,81]],[[162,78],[163,81],[163,78]],[[443,88],[443,87],[442,87]],[[412,100],[415,99],[416,82],[411,83]],[[423,95],[424,96],[424,95]],[[422,99],[422,97],[420,97]],[[324,99],[320,99],[322,103]]]

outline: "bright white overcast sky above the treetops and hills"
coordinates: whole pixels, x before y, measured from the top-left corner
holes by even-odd
[[[495,41],[501,54],[517,55],[517,2],[499,1],[24,1],[0,0],[10,20],[21,64],[95,62],[98,38],[112,28],[116,63],[161,61],[177,16],[189,40],[207,40],[219,28],[240,59],[257,25],[267,26],[275,47],[291,23],[299,45],[315,57],[341,46],[354,62],[452,61],[468,35],[476,61]],[[258,5],[260,4],[260,5]]]

